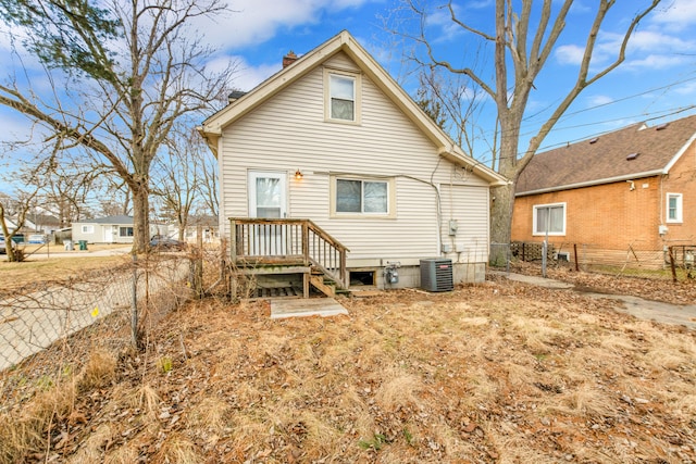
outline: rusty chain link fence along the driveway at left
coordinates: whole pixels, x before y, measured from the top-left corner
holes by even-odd
[[[147,348],[148,331],[158,321],[202,296],[203,256],[198,249],[150,254],[108,269],[0,291],[3,406],[32,394],[38,384],[51,385],[78,369],[95,350],[117,358],[124,350]],[[12,375],[20,365],[32,379]]]

